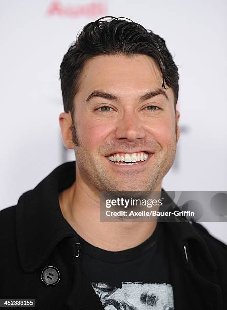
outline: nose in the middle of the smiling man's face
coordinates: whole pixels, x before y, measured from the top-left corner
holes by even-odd
[[[144,138],[145,130],[139,115],[134,112],[125,112],[124,116],[118,121],[115,134],[117,139],[127,139],[132,142]]]

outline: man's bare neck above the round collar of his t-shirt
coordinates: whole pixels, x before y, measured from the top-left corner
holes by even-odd
[[[154,191],[161,192],[161,184]],[[141,244],[157,225],[157,221],[100,222],[99,192],[83,181],[78,169],[73,185],[59,194],[59,204],[64,218],[77,234],[108,251],[122,251]]]

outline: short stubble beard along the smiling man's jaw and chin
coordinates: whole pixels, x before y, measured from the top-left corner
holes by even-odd
[[[175,133],[169,145],[168,156],[164,154],[164,156],[155,157],[156,161],[152,166],[152,171],[148,179],[138,180],[135,173],[132,172],[132,178],[135,178],[135,182],[132,182],[132,178],[129,178],[130,181],[127,184],[122,184],[119,182],[119,179],[114,180],[113,175],[107,173],[107,171],[95,161],[89,149],[86,150],[77,134],[76,124],[73,121],[72,141],[74,143],[76,163],[80,175],[88,186],[92,185],[98,191],[154,191],[173,165],[177,145],[177,126],[175,128]],[[155,154],[153,156],[155,156]]]

